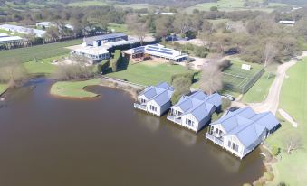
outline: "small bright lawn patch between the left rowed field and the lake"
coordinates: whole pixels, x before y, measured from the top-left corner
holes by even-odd
[[[37,61],[24,62],[24,68],[29,74],[52,74],[56,70],[56,65],[52,64],[54,60],[60,60],[67,55],[54,56]]]

